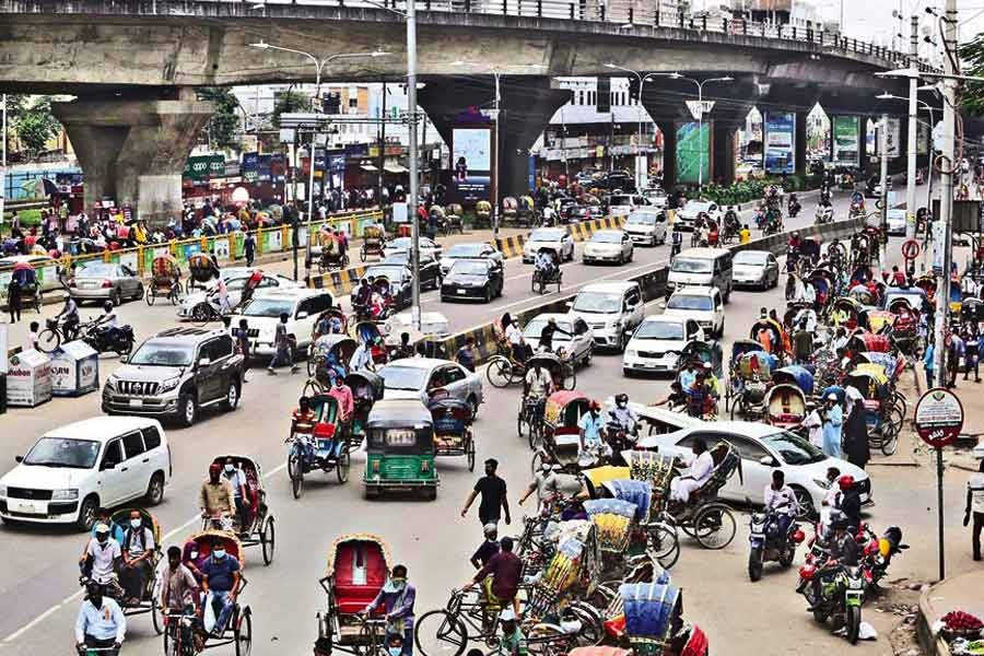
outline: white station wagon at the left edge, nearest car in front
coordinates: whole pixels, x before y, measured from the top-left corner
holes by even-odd
[[[0,478],[3,522],[92,529],[99,507],[156,505],[171,481],[171,447],[156,419],[96,417],[42,435]],[[138,504],[140,505],[140,504]]]

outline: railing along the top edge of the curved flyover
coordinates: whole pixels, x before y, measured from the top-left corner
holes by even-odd
[[[220,0],[255,2],[255,0]],[[377,9],[385,5],[400,11],[407,0],[266,0],[265,4],[301,4],[321,7],[349,7]],[[417,0],[418,10],[455,13],[477,13],[538,19],[594,21],[645,27],[666,27],[699,33],[728,34],[735,36],[811,43],[822,48],[868,55],[891,62],[899,68],[916,66],[932,70],[927,63],[913,61],[905,52],[886,46],[842,36],[835,32],[795,25],[757,23],[743,19],[718,16],[691,16],[684,12],[666,11],[659,0]]]

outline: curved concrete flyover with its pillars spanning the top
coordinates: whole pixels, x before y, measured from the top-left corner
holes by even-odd
[[[0,0],[0,90],[79,96],[57,112],[80,150],[93,150],[82,156],[92,183],[86,202],[113,195],[138,215],[161,222],[180,207],[176,162],[208,113],[191,87],[314,79],[305,58],[249,44],[267,40],[319,57],[382,47],[393,56],[338,60],[326,79],[403,78],[402,17],[337,2]],[[466,78],[462,73],[475,69],[464,71],[454,62],[482,62],[502,74],[502,195],[525,188],[526,152],[570,97],[552,78],[611,74],[605,67],[611,61],[646,72],[736,79],[729,90],[708,87],[705,95],[719,101],[705,120],[715,121],[718,144],[713,179],[725,181],[733,175],[728,136],[755,104],[805,112],[819,99],[839,113],[870,115],[877,93],[905,93],[903,82],[872,74],[907,66],[906,56],[829,33],[740,21],[681,22],[659,15],[658,3],[637,0],[418,5],[419,68],[429,83],[420,105],[445,137],[455,116],[493,96],[488,74]],[[693,92],[684,81],[657,79],[646,85],[643,104],[669,132],[687,120],[683,101]],[[905,106],[888,109],[901,115]],[[159,149],[163,154],[152,156]]]

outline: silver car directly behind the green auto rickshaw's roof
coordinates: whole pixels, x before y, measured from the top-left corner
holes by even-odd
[[[453,398],[471,406],[475,417],[484,398],[481,377],[449,360],[403,358],[377,373],[383,377],[383,397],[386,399],[420,399],[426,405],[431,393],[443,388]]]

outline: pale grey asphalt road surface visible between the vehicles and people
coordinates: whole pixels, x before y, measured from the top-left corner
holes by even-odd
[[[808,206],[804,221],[812,220]],[[898,250],[898,241],[893,241]],[[648,261],[659,261],[661,249],[651,253]],[[637,255],[646,253],[637,251]],[[528,276],[518,262],[507,265],[507,277]],[[629,267],[611,268],[621,277]],[[567,267],[571,278],[583,276],[584,281],[608,273],[606,269]],[[528,282],[527,282],[528,284]],[[512,286],[517,285],[517,286]],[[526,289],[525,285],[522,285]],[[514,279],[509,290],[520,289]],[[735,337],[753,320],[762,305],[782,307],[782,288],[765,293],[736,292],[727,308],[728,332],[725,351]],[[512,293],[506,302],[515,302]],[[436,298],[434,305],[437,305]],[[458,306],[440,305],[444,308]],[[465,317],[476,308],[445,309],[448,316]],[[483,311],[487,308],[483,308]],[[502,307],[485,317],[496,316]],[[46,313],[54,308],[46,308]],[[139,336],[171,325],[173,308],[145,304],[122,307],[125,320],[133,324]],[[651,305],[647,312],[657,312]],[[459,314],[460,313],[460,314]],[[453,319],[453,321],[464,319]],[[479,320],[472,320],[477,324]],[[458,324],[459,326],[461,324]],[[457,327],[457,326],[456,326]],[[16,343],[16,342],[15,342]],[[116,365],[113,359],[102,361],[104,376]],[[289,378],[289,379],[285,379]],[[256,458],[265,468],[265,484],[277,522],[277,560],[269,567],[262,565],[258,550],[246,554],[246,576],[249,586],[242,597],[254,611],[254,654],[309,654],[316,636],[315,613],[325,607],[325,595],[318,586],[324,575],[326,558],[332,540],[341,534],[370,531],[384,537],[394,557],[410,569],[410,578],[419,590],[418,614],[443,606],[448,590],[460,586],[471,575],[468,555],[481,539],[476,509],[467,519],[458,515],[478,473],[469,473],[464,458],[442,459],[438,462],[442,487],[435,502],[389,499],[367,502],[362,499],[360,484],[364,458],[356,454],[352,477],[348,484],[338,485],[333,477],[312,477],[301,501],[291,497],[283,471],[290,411],[296,402],[304,377],[281,373],[268,376],[255,372],[244,388],[241,407],[229,414],[208,412],[202,421],[189,430],[167,431],[174,455],[175,479],[166,491],[165,502],[154,513],[160,518],[165,543],[180,543],[197,528],[197,490],[206,477],[212,457],[224,453],[243,453]],[[665,395],[667,380],[626,379],[621,373],[619,355],[595,358],[587,370],[578,373],[579,389],[605,398],[625,391],[634,400],[656,399]],[[502,461],[501,473],[508,482],[509,499],[518,499],[528,483],[529,449],[518,438],[513,417],[518,401],[516,388],[507,390],[487,387],[487,402],[481,408],[475,430],[479,461],[496,457]],[[96,415],[98,395],[79,399],[57,399],[38,409],[12,410],[0,417],[3,435],[2,459],[13,466],[12,458],[23,454],[43,432],[65,423]],[[504,418],[504,419],[503,419]],[[905,452],[905,449],[901,449]],[[10,458],[10,459],[7,459]],[[5,468],[4,468],[5,469]],[[900,524],[913,549],[893,565],[890,577],[907,576],[926,579],[936,571],[935,543],[935,477],[932,468],[872,467],[874,493],[877,505],[871,511],[872,525],[882,529]],[[948,530],[959,531],[959,509],[962,508],[964,475],[948,475]],[[520,515],[514,506],[514,515]],[[518,520],[513,529],[518,530]],[[804,610],[803,600],[793,591],[795,571],[766,570],[764,579],[750,584],[745,571],[747,542],[746,522],[739,520],[738,535],[730,547],[721,552],[702,551],[684,540],[680,563],[673,570],[675,582],[683,586],[687,617],[707,631],[712,644],[729,645],[723,653],[742,656],[762,654],[762,644],[782,647],[783,654],[870,653],[890,654],[885,636],[874,644],[847,647],[842,639],[830,636],[812,624]],[[0,653],[57,654],[67,653],[80,595],[77,587],[77,558],[84,537],[71,529],[52,527],[4,526],[0,529]],[[961,541],[948,544],[950,566],[970,566],[969,549]],[[740,611],[738,609],[740,608]],[[883,633],[886,618],[868,613],[876,628]],[[156,654],[161,639],[153,634],[147,617],[131,622],[127,654]],[[717,653],[721,647],[715,648]],[[231,649],[230,649],[231,652]],[[776,652],[778,653],[778,652]]]

